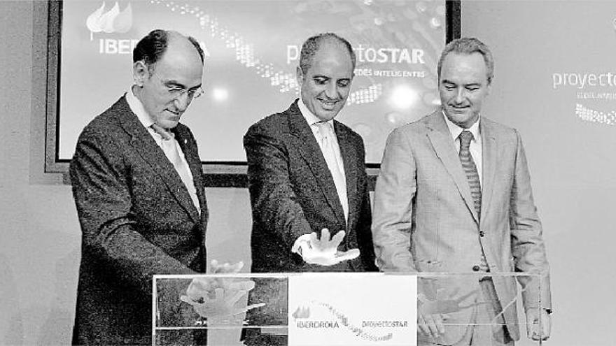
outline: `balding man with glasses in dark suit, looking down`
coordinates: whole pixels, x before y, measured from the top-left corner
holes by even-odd
[[[203,57],[194,38],[152,31],[134,49],[134,85],[79,136],[75,344],[151,344],[153,275],[205,272],[201,160],[179,123],[202,93]]]

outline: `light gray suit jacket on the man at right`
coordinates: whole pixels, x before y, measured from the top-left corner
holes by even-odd
[[[519,277],[524,308],[541,301],[551,309],[549,266],[542,227],[533,202],[524,147],[514,129],[481,118],[482,210],[473,207],[468,182],[441,110],[395,129],[387,140],[374,192],[372,232],[382,271],[472,273],[483,248],[492,273]],[[477,292],[477,277],[442,280],[437,289],[461,297]],[[494,277],[505,322],[519,338],[513,278]],[[454,297],[455,298],[455,297]],[[474,296],[465,302],[472,303]],[[472,309],[451,314],[450,324],[470,321]],[[451,328],[444,343],[464,329]]]

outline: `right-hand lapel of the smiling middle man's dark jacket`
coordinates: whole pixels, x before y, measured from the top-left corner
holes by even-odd
[[[355,206],[357,205],[357,150],[351,142],[349,131],[339,122],[334,121],[334,129],[338,146],[340,147],[340,156],[344,165],[344,178],[346,180],[346,199],[349,202],[349,222],[346,228],[350,229],[351,220],[354,219]]]

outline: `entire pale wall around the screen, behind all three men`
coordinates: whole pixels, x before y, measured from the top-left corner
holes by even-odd
[[[67,345],[75,303],[80,231],[70,187],[41,178],[44,37],[37,30],[45,23],[34,16],[37,3],[0,1],[0,345]],[[519,129],[531,166],[552,263],[554,329],[546,345],[612,344],[616,136],[575,114],[575,103],[606,112],[611,103],[553,88],[554,73],[616,72],[609,3],[462,3],[463,35],[482,38],[496,59],[484,115]],[[247,260],[248,192],[207,193],[209,257]]]

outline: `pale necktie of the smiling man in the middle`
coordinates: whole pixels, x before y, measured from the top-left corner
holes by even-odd
[[[318,133],[321,135],[321,152],[323,152],[323,158],[332,173],[334,185],[336,186],[336,192],[338,199],[342,205],[342,211],[344,212],[344,218],[349,217],[349,201],[346,199],[346,180],[344,178],[344,171],[340,171],[339,161],[334,148],[332,137],[335,136],[334,129],[328,122],[316,122]]]

